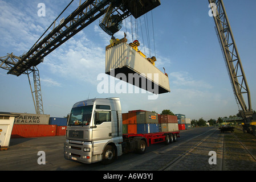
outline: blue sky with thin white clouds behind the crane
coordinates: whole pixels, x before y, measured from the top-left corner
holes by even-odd
[[[20,56],[29,51],[69,2],[0,0],[0,57],[11,52]],[[72,13],[78,2],[75,0],[60,19]],[[38,3],[46,5],[46,16],[38,16]],[[256,1],[225,0],[224,4],[249,83],[252,107],[256,110]],[[151,54],[155,55],[156,51],[156,67],[161,71],[165,67],[170,83],[170,93],[160,94],[157,100],[148,100],[151,93],[97,92],[100,82],[97,75],[104,73],[105,46],[111,37],[100,29],[99,20],[96,20],[38,65],[44,113],[63,117],[70,113],[75,102],[88,97],[120,97],[123,113],[137,109],[161,113],[169,109],[190,119],[204,118],[206,121],[237,114],[238,106],[214,30],[215,24],[208,11],[207,0],[162,0],[161,6],[147,14],[151,27]],[[132,21],[134,23],[134,18]],[[144,18],[139,21],[144,28]],[[123,38],[124,32],[127,32],[128,42],[132,42],[131,18],[123,22],[116,38]],[[149,55],[145,35],[145,31],[141,34],[139,26],[140,49]],[[0,85],[0,111],[35,113],[26,75],[7,75],[7,71],[0,69]]]

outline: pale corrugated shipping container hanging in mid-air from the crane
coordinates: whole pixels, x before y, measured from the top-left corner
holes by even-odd
[[[168,76],[125,42],[106,50],[105,73],[148,92],[170,92]]]

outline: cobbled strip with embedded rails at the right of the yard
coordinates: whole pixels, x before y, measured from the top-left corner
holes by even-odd
[[[201,134],[196,144],[182,152],[159,171],[246,171],[256,170],[256,140],[239,130],[221,133],[210,130]],[[192,139],[193,140],[193,139]],[[192,142],[186,141],[186,143]],[[183,143],[184,145],[185,143]],[[216,152],[216,164],[210,164],[210,151]]]

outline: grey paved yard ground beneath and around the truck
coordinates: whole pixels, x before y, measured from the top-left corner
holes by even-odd
[[[237,138],[256,156],[256,138],[235,130]],[[101,163],[82,164],[63,156],[65,137],[11,139],[9,150],[0,151],[0,170],[22,171],[248,171],[256,170],[256,161],[231,133],[205,127],[181,131],[177,142],[155,144],[143,155],[122,155],[107,166]],[[196,146],[196,147],[194,147]],[[46,164],[40,163],[39,151],[46,154]],[[217,164],[209,164],[209,152],[217,154]],[[224,160],[222,160],[224,158]],[[174,162],[173,162],[174,161]]]

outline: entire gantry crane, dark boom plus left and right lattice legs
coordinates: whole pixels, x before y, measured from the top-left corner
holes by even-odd
[[[73,0],[74,1],[74,0]],[[255,134],[255,125],[251,125],[255,116],[251,108],[250,90],[241,64],[234,36],[222,0],[208,0],[213,10],[213,18],[216,23],[216,32],[220,40],[222,52],[229,72],[231,85],[241,115],[245,119],[244,129]],[[72,2],[72,1],[71,1]],[[36,42],[23,56],[14,56],[13,53],[0,57],[1,68],[7,69],[7,74],[20,76],[26,74],[29,77],[33,73],[36,113],[43,113],[42,95],[40,94],[39,71],[36,65],[43,62],[43,58],[54,51],[68,39],[72,38],[83,28],[103,16],[99,26],[109,35],[115,34],[121,28],[121,22],[132,15],[139,18],[141,15],[155,9],[160,5],[160,0],[87,0],[80,4],[78,9],[71,13],[58,26]],[[54,22],[55,26],[55,22]],[[243,98],[247,96],[248,105]],[[33,96],[34,100],[34,96]]]

